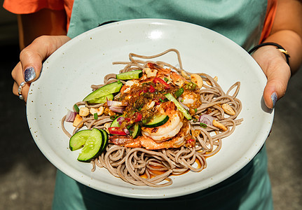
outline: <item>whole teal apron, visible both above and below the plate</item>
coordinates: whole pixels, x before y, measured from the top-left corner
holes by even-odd
[[[245,49],[259,42],[266,0],[75,0],[68,36],[112,20],[165,18],[195,23]],[[158,200],[109,195],[57,171],[53,209],[273,209],[266,148],[238,173],[198,193]]]

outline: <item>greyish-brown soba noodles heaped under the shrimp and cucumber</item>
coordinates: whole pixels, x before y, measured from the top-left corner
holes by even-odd
[[[144,69],[149,61],[165,55],[167,52],[176,52],[179,68],[167,64],[165,62],[155,62],[161,66],[166,66],[174,69],[179,74],[183,71],[179,52],[175,49],[166,50],[158,55],[142,56],[130,53],[130,62],[114,62],[114,64],[123,64],[125,68],[120,73],[132,71],[135,69]],[[139,58],[139,59],[135,59]],[[141,60],[144,59],[144,60]],[[153,62],[154,63],[154,62]],[[190,72],[186,71],[188,76]],[[104,151],[98,158],[92,160],[92,172],[96,167],[106,168],[113,176],[123,179],[123,181],[131,183],[135,186],[151,186],[163,187],[172,184],[171,175],[180,175],[185,172],[200,172],[207,167],[206,158],[219,152],[222,146],[222,139],[231,135],[236,125],[240,125],[242,119],[237,119],[242,104],[236,98],[240,89],[240,82],[232,85],[227,92],[224,92],[220,85],[214,78],[206,73],[198,73],[204,81],[208,81],[210,85],[204,83],[200,88],[200,98],[202,105],[196,109],[196,114],[201,115],[206,113],[214,117],[219,123],[223,124],[227,130],[221,131],[219,128],[212,125],[207,127],[200,126],[200,122],[190,120],[190,134],[195,137],[196,143],[192,148],[181,146],[180,148],[165,148],[156,151],[146,150],[145,148],[126,148],[125,146],[117,146],[115,144],[108,144],[106,151]],[[103,85],[113,83],[116,81],[116,73],[110,73],[104,77],[104,84],[92,85],[92,89],[96,90]],[[125,81],[121,80],[123,83]],[[231,94],[233,92],[233,94]],[[119,94],[115,96],[115,99]],[[77,102],[78,106],[86,106],[88,108],[98,108],[103,104],[90,105],[87,102]],[[221,104],[229,104],[235,111],[235,115],[228,116],[221,109]],[[64,118],[62,118],[62,129],[71,137],[80,130],[76,127],[72,134],[64,128]],[[83,117],[82,122],[91,130],[93,127],[106,130],[105,123],[111,123],[113,120],[109,116],[99,116],[94,120],[93,116]]]

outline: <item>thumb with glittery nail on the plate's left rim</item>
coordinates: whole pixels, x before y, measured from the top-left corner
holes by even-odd
[[[23,77],[27,84],[39,78],[42,62],[69,39],[68,36],[40,36],[20,52]]]

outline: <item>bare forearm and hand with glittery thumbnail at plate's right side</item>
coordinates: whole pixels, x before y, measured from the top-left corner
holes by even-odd
[[[263,99],[269,109],[273,109],[277,99],[284,96],[289,78],[302,62],[302,2],[279,0],[273,29],[265,42],[281,45],[289,53],[289,65],[283,52],[274,45],[258,48],[252,56],[261,66],[267,80]]]

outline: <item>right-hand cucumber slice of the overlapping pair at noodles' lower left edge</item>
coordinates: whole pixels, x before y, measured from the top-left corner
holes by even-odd
[[[100,130],[92,128],[91,134],[88,137],[82,152],[78,155],[78,160],[82,162],[89,162],[102,152],[103,134]]]

